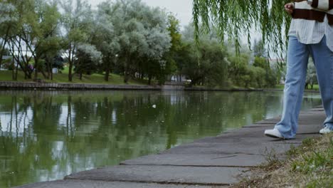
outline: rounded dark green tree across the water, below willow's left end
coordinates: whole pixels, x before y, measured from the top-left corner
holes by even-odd
[[[227,81],[228,62],[226,49],[213,33],[200,38],[199,46],[193,38],[194,28],[183,31],[184,46],[178,55],[181,73],[191,80],[191,85],[223,86]]]

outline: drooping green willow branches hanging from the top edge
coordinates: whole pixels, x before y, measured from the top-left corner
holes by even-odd
[[[221,41],[225,37],[233,39],[238,52],[240,37],[247,35],[250,44],[253,37],[250,31],[255,28],[261,32],[269,51],[282,55],[290,25],[290,16],[284,11],[288,2],[290,0],[194,0],[196,41],[201,31],[214,29]]]

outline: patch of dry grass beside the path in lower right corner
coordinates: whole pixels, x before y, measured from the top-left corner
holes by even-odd
[[[233,187],[333,187],[333,134],[306,139],[287,152],[286,160],[271,155],[254,168],[253,177]]]

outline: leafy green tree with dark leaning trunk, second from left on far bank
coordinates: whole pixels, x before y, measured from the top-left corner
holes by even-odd
[[[38,71],[43,73],[44,78],[49,77],[52,73],[52,65],[46,63],[46,71],[44,73],[45,60],[42,58],[53,58],[60,51],[60,38],[58,37],[58,23],[60,13],[58,12],[58,4],[49,4],[47,1],[33,1],[33,10],[27,15],[25,23],[28,29],[23,26],[23,41],[33,56],[35,76],[38,76]],[[40,62],[41,61],[41,62]],[[48,62],[48,61],[47,61]]]

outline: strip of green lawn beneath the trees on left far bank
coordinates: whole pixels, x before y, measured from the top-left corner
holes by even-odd
[[[39,74],[41,76],[41,73]],[[13,81],[11,79],[11,71],[0,71],[0,81]],[[32,81],[32,79],[25,80],[24,74],[18,71],[18,81]],[[67,73],[57,73],[53,74],[53,80],[43,79],[47,83],[70,83],[68,82]],[[93,75],[83,75],[83,79],[80,80],[78,75],[74,75],[73,81],[71,83],[91,83],[91,84],[110,84],[110,85],[125,85],[124,78],[121,75],[110,74],[109,81],[104,80],[104,75],[93,74]],[[147,85],[145,80],[129,80],[128,85]]]

